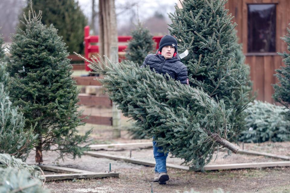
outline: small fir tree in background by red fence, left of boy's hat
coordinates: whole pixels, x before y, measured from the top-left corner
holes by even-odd
[[[127,60],[138,63],[141,66],[144,58],[153,52],[153,36],[140,22],[136,25],[136,29],[131,32],[131,36],[132,39],[128,43],[125,57]]]

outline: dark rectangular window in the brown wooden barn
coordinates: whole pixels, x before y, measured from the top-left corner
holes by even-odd
[[[248,52],[276,52],[276,4],[248,5]]]

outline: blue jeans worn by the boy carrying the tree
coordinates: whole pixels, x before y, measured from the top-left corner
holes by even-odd
[[[157,142],[153,139],[153,155],[156,162],[154,171],[158,173],[167,173],[166,158],[168,153],[158,152],[158,150],[162,150],[162,147],[157,147],[156,144]]]

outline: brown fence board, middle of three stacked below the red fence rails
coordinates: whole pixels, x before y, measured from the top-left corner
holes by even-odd
[[[90,94],[79,94],[79,103],[81,105],[95,105],[95,106],[103,106],[106,108],[112,107],[112,101],[109,99],[108,96],[95,96]]]

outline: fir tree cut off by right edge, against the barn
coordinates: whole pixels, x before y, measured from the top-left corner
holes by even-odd
[[[282,37],[287,44],[288,51],[290,51],[290,29],[287,28],[287,35]],[[276,69],[276,77],[279,83],[273,85],[275,93],[273,94],[273,99],[276,102],[281,103],[288,111],[285,113],[287,119],[290,120],[290,54],[287,52],[278,53],[282,56],[285,66],[281,66]]]

